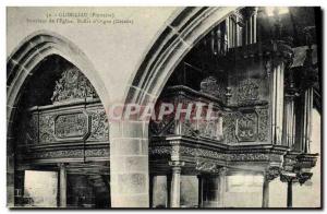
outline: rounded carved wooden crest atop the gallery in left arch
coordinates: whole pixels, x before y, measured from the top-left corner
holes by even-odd
[[[77,68],[72,68],[61,74],[56,82],[52,103],[76,98],[97,97],[95,88]]]

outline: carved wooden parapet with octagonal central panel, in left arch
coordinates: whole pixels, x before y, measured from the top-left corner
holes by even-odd
[[[27,144],[109,140],[108,117],[100,104],[86,109],[34,111],[25,122]]]

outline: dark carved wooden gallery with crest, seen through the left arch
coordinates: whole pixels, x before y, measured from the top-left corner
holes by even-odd
[[[17,165],[109,160],[105,109],[76,68],[56,82],[51,105],[26,110],[17,140]]]

